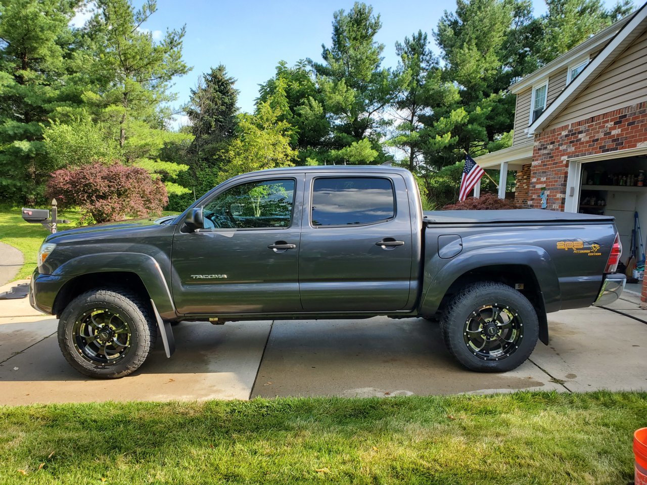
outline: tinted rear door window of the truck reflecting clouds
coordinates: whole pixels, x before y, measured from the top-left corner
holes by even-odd
[[[315,178],[313,226],[346,226],[395,217],[395,194],[388,178]]]

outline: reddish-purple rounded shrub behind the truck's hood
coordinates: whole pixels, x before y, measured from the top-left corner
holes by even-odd
[[[168,203],[161,180],[153,180],[143,168],[118,163],[57,170],[47,183],[46,195],[63,206],[79,206],[81,222],[159,215]]]

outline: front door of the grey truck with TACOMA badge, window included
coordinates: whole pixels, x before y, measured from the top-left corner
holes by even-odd
[[[181,314],[297,312],[303,175],[254,178],[203,206],[204,230],[177,226],[173,299]]]

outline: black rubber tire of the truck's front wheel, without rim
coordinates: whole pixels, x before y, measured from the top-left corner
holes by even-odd
[[[105,366],[91,363],[74,345],[74,324],[93,308],[105,308],[127,319],[131,345],[117,363]],[[155,347],[156,338],[157,325],[146,300],[122,288],[95,289],[77,296],[63,310],[58,322],[58,345],[65,360],[82,374],[100,379],[116,379],[137,371]]]

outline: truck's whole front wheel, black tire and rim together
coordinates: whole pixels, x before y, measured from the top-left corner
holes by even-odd
[[[58,322],[58,345],[74,369],[95,378],[137,371],[157,327],[144,301],[127,290],[91,290],[72,300]]]

